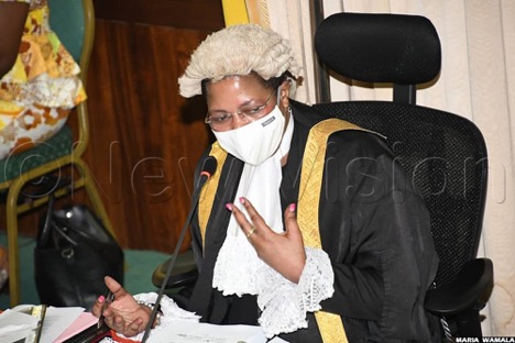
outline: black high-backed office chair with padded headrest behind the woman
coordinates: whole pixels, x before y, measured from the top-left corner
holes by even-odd
[[[393,101],[315,108],[387,137],[431,217],[440,265],[426,309],[441,319],[443,340],[481,338],[479,311],[493,288],[492,262],[475,258],[485,204],[486,147],[465,118],[416,106],[416,86],[434,81],[440,70],[436,29],[418,15],[337,13],[317,27],[315,48],[320,62],[340,77],[393,85]]]

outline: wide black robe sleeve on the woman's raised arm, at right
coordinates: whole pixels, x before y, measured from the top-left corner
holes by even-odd
[[[346,131],[329,144],[319,207],[335,295],[324,310],[369,334],[429,340],[424,297],[438,258],[423,199],[382,139]]]

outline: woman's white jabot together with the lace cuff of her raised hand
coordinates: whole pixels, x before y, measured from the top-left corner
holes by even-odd
[[[248,198],[275,232],[284,231],[280,198],[281,158],[289,151],[293,131],[291,115],[277,152],[259,166],[244,165],[235,196],[235,199]],[[243,207],[240,210],[249,218]],[[215,265],[212,287],[224,296],[256,295],[262,310],[260,324],[269,338],[307,328],[306,312],[318,310],[319,302],[332,296],[333,273],[324,251],[306,248],[306,254],[300,280],[293,284],[258,257],[231,217]]]

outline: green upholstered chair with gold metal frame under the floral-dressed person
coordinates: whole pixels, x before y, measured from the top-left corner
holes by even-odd
[[[51,27],[57,33],[63,44],[80,65],[81,79],[86,87],[86,76],[91,55],[95,12],[92,0],[48,0],[51,8]],[[48,141],[20,154],[0,161],[0,191],[6,197],[7,236],[9,248],[9,292],[10,305],[20,302],[20,270],[18,248],[18,217],[48,201],[48,195],[32,197],[31,201],[21,201],[23,187],[47,175],[61,176],[59,170],[72,166],[74,179],[72,186],[54,190],[56,197],[85,188],[95,212],[112,233],[112,228],[102,206],[88,166],[81,158],[89,139],[87,103],[77,106],[78,136],[74,137],[66,124]]]

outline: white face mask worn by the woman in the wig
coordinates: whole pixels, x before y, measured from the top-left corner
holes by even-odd
[[[285,119],[278,106],[259,120],[235,130],[212,131],[220,146],[244,163],[258,166],[278,148]]]

